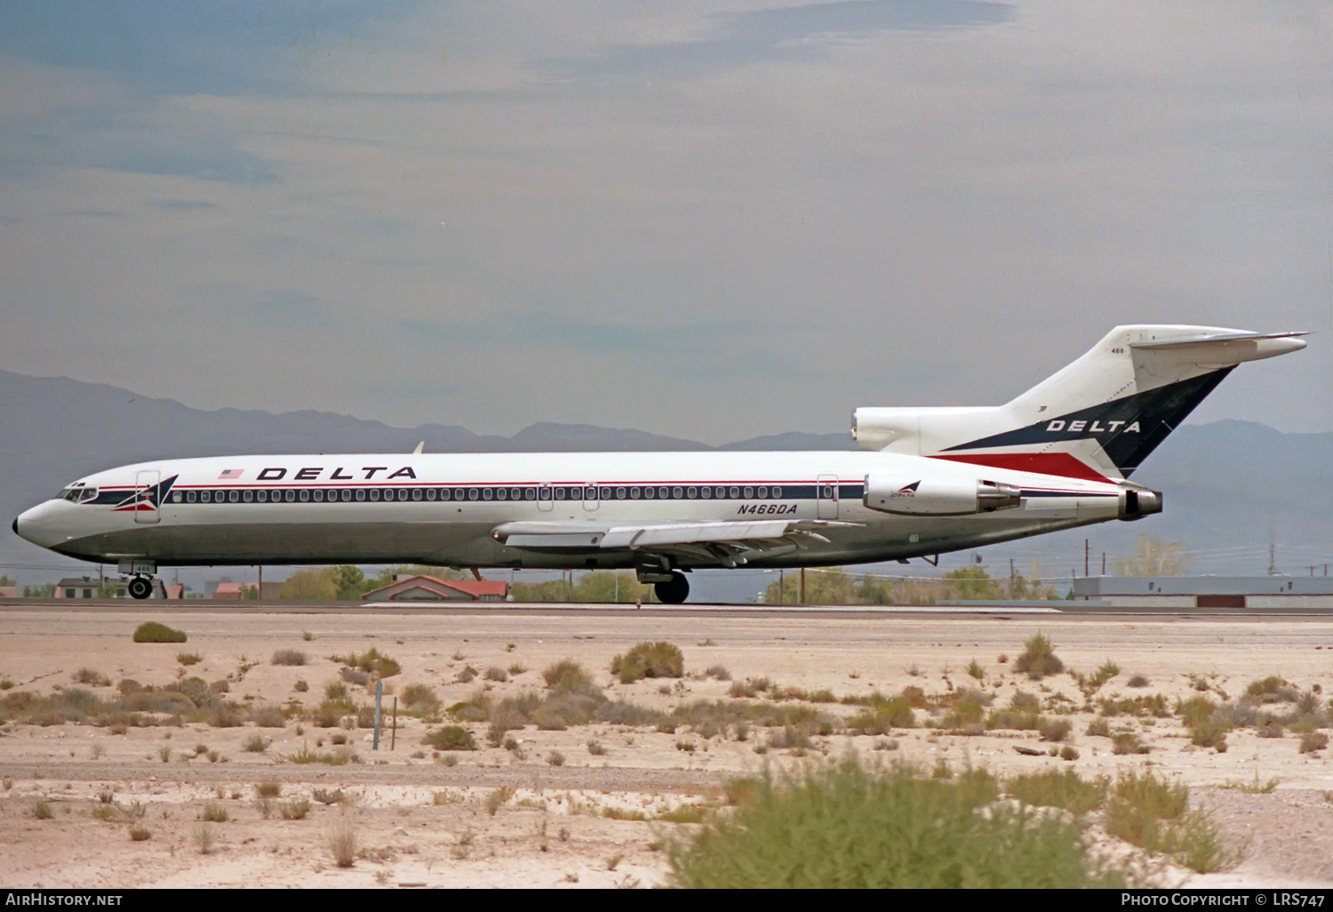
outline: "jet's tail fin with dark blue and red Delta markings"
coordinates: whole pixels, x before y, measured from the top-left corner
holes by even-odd
[[[1236,365],[1305,348],[1301,332],[1116,327],[1004,405],[858,408],[862,449],[1098,480],[1128,479]]]

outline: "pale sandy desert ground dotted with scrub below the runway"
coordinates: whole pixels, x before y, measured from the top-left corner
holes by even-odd
[[[133,643],[145,620],[188,641]],[[1016,669],[1036,633],[1066,671],[1032,680]],[[641,641],[680,647],[684,676],[621,684],[612,660]],[[372,648],[400,667],[383,680],[379,749],[357,720],[367,721],[359,711],[373,703],[372,685],[345,671]],[[275,664],[283,652],[304,664]],[[492,737],[495,707],[537,703],[549,691],[543,672],[561,660],[628,708],[587,724],[511,720]],[[1098,669],[1105,680],[1089,683]],[[1196,744],[1174,711],[1144,711],[1200,695],[1238,705],[1264,680],[1258,713],[1270,721],[1233,728],[1225,748]],[[147,708],[127,709],[125,695],[172,685],[195,709],[143,697]],[[340,685],[353,709],[321,717]],[[664,841],[725,813],[728,780],[848,752],[997,775],[1150,769],[1186,784],[1241,857],[1196,873],[1136,855],[1157,883],[1333,887],[1329,749],[1302,737],[1309,721],[1292,724],[1302,699],[1305,711],[1330,712],[1328,616],[11,603],[0,605],[0,884],[9,888],[656,887],[668,877]],[[905,688],[928,704],[913,727],[846,725],[853,699]],[[427,691],[437,708],[405,712],[403,697]],[[961,724],[948,708],[960,695],[992,708],[1036,697],[1069,733],[1050,741]],[[661,723],[698,701],[777,707],[792,724],[698,712]],[[477,717],[481,705],[489,720]],[[1098,719],[1109,733],[1096,733]],[[449,724],[476,749],[424,743]],[[1146,752],[1117,753],[1116,735]]]

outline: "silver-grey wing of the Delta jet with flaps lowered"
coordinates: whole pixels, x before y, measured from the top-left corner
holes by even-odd
[[[677,521],[640,525],[597,523],[504,523],[492,531],[496,541],[528,551],[623,549],[643,553],[745,563],[744,555],[774,556],[801,547],[802,537],[826,541],[820,527],[852,525],[820,520]]]

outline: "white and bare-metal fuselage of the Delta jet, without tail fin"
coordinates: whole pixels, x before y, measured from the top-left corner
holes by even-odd
[[[905,489],[921,479],[985,479],[1022,496],[994,512],[900,515],[866,507],[868,476]],[[1110,480],[885,452],[237,456],[87,476],[23,513],[15,531],[107,563],[613,568],[633,567],[652,549],[599,545],[608,532],[753,520],[765,533],[738,535],[725,552],[659,551],[680,568],[796,567],[981,547],[1117,519],[1124,503],[1124,484]],[[793,525],[774,540],[769,520],[800,524],[800,533]],[[563,537],[552,536],[553,547],[504,544],[499,531],[519,524]]]

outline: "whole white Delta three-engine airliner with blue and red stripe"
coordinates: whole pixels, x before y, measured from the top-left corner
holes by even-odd
[[[868,452],[227,456],[97,472],[13,529],[159,567],[388,564],[633,568],[665,603],[685,573],[929,557],[1161,512],[1129,481],[1240,363],[1296,336],[1117,327],[1005,405],[860,408]]]

